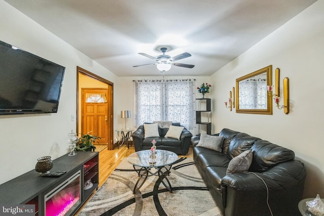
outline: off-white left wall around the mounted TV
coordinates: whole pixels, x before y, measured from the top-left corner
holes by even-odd
[[[66,136],[76,131],[76,66],[111,82],[117,76],[3,0],[0,20],[0,40],[66,67],[58,113],[0,116],[1,184],[32,170],[38,157],[68,152]]]

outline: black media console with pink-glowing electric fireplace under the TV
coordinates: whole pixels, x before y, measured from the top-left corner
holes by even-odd
[[[35,215],[73,215],[99,184],[99,152],[77,152],[53,160],[58,178],[39,177],[34,169],[0,185],[0,204],[34,204]],[[91,180],[93,186],[85,189]]]

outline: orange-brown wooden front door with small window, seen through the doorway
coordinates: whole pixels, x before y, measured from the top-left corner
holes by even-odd
[[[88,94],[104,94],[109,102],[108,89],[82,89],[82,134],[91,132],[101,138],[99,144],[108,144],[108,102],[87,102]]]

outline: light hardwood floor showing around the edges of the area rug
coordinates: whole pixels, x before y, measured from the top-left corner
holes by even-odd
[[[106,148],[99,152],[99,188],[103,185],[103,183],[105,183],[112,171],[118,166],[120,161],[134,152],[134,146],[130,146],[130,148],[128,149],[126,145],[119,146],[119,149],[115,148],[114,150],[107,150]],[[179,157],[192,158],[192,148],[189,148],[187,155],[179,155]],[[87,202],[91,199],[95,192],[92,193]],[[78,215],[82,208],[87,204],[87,202],[85,202],[85,204],[74,215]]]

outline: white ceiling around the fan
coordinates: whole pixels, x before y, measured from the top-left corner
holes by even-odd
[[[316,0],[5,0],[117,76],[160,76],[160,46],[194,68],[166,75],[211,75]]]

